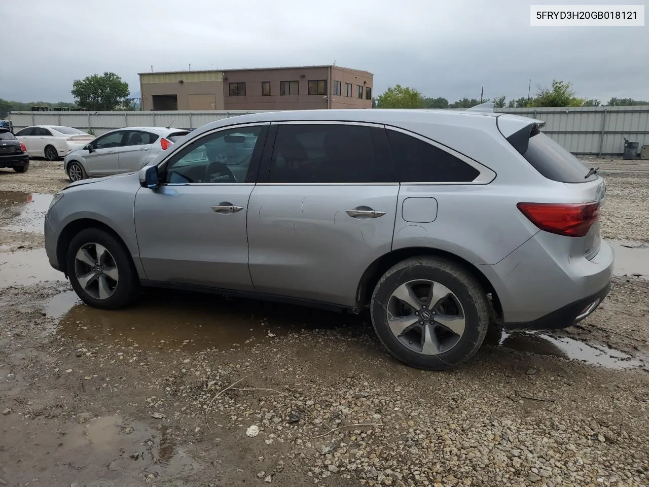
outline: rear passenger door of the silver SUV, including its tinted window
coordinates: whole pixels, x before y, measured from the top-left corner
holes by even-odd
[[[391,249],[399,184],[382,125],[273,123],[248,205],[256,291],[354,306]]]

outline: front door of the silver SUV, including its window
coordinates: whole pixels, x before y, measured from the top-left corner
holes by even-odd
[[[246,215],[267,128],[201,134],[161,162],[158,188],[138,190],[135,229],[149,281],[253,290]],[[254,138],[252,153],[223,154],[224,146],[244,145],[247,137]]]

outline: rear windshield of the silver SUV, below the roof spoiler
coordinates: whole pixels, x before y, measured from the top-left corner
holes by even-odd
[[[523,157],[539,173],[552,181],[585,182],[596,179],[595,175],[586,179],[588,168],[543,132],[537,132],[530,137],[530,144]]]

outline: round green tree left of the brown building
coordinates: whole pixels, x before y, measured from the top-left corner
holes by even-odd
[[[75,79],[72,87],[72,95],[79,106],[89,110],[114,110],[129,96],[129,84],[121,81],[115,73],[107,71],[103,76],[92,75],[84,79]]]

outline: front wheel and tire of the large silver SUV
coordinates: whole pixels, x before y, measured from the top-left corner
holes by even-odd
[[[101,229],[79,232],[67,249],[66,270],[84,303],[114,310],[134,303],[140,281],[125,245]]]

